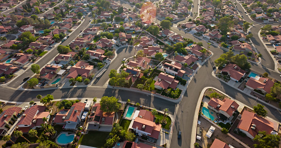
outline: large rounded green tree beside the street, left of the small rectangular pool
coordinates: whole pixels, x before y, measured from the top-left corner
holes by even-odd
[[[118,103],[118,99],[115,97],[103,96],[101,101],[101,110],[103,112],[117,112],[121,108],[121,103]]]

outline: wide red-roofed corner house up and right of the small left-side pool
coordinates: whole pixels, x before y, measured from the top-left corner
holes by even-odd
[[[93,65],[89,65],[89,63],[79,61],[71,67],[66,78],[76,78],[78,75],[81,75],[84,78],[88,78],[92,74],[93,70]]]

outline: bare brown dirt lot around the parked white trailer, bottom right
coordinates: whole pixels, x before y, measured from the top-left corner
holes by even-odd
[[[198,125],[198,127],[201,127],[202,135],[201,135],[201,141],[196,140],[196,142],[199,143],[201,147],[210,148],[210,146],[212,145],[215,138],[217,138],[217,139],[225,142],[226,144],[233,146],[234,148],[244,148],[242,145],[240,145],[237,141],[232,139],[230,136],[223,134],[221,132],[221,130],[218,128],[215,129],[211,138],[208,139],[205,135],[206,135],[207,131],[209,130],[209,128],[211,127],[211,125],[213,125],[213,124],[209,123],[207,120],[205,120],[202,117],[199,117],[198,120],[201,121],[201,125]]]

